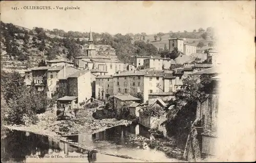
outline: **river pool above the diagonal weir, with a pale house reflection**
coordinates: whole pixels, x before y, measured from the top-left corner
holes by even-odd
[[[94,134],[72,135],[68,139],[78,144],[86,145],[90,148],[95,148],[104,152],[116,153],[120,155],[129,155],[138,159],[150,159],[156,161],[173,161],[168,158],[163,152],[155,149],[141,149],[138,145],[130,142],[129,138],[141,135],[147,139],[152,139],[152,135],[148,132],[147,127],[140,124],[131,124],[128,126],[120,125],[108,128],[104,131]],[[175,161],[178,161],[175,159]]]

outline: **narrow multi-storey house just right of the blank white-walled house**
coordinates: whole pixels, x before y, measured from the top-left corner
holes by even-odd
[[[114,95],[114,83],[112,75],[102,75],[95,77],[95,98],[105,100]]]

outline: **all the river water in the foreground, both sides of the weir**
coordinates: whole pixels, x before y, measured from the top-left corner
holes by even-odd
[[[1,141],[1,157],[4,162],[144,162],[145,160],[148,160],[147,162],[181,162],[175,158],[168,158],[163,152],[150,148],[141,149],[130,144],[127,138],[131,136],[142,135],[150,139],[151,136],[147,130],[139,124],[131,124],[112,127],[94,134],[68,137],[73,142],[90,148],[137,159],[97,153],[97,159],[90,160],[87,150],[43,135],[17,130],[9,131],[7,137]]]

